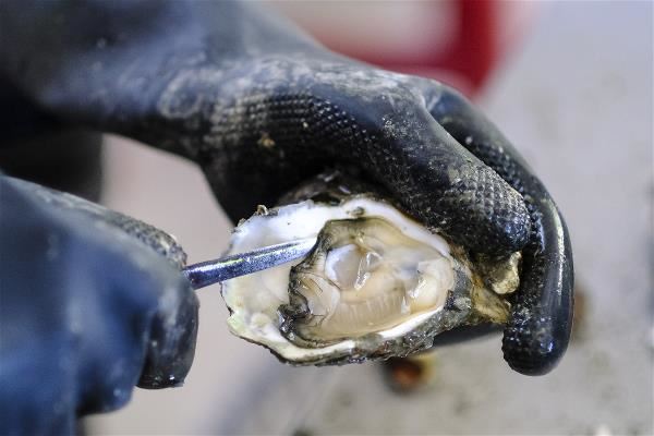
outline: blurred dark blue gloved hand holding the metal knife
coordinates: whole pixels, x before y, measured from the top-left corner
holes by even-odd
[[[0,175],[0,428],[71,434],[135,384],[175,386],[198,303],[168,234]]]

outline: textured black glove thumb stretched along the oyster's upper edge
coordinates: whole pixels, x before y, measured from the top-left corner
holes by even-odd
[[[458,144],[411,90],[361,98],[330,85],[252,96],[216,120],[199,161],[233,219],[335,164],[361,168],[428,226],[482,253],[520,250],[521,196]],[[370,93],[368,93],[370,94]],[[243,121],[244,120],[244,121]],[[216,153],[219,150],[219,154]],[[256,204],[256,203],[255,203]]]

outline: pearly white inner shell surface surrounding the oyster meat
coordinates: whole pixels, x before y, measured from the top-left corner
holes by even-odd
[[[329,220],[362,216],[382,217],[393,223],[407,237],[429,245],[446,258],[451,259],[449,246],[441,237],[429,232],[421,223],[407,217],[391,205],[367,197],[354,197],[338,206],[307,201],[281,207],[275,215],[253,216],[234,230],[229,254],[315,237]],[[289,302],[290,269],[300,262],[223,282],[222,296],[232,311],[228,319],[230,330],[237,336],[270,348],[291,362],[319,361],[329,355],[347,353],[354,348],[354,340],[343,340],[328,347],[308,349],[290,342],[279,331],[277,310],[280,305]],[[440,306],[433,311],[422,312],[409,320],[378,334],[383,338],[405,335],[439,310]]]

